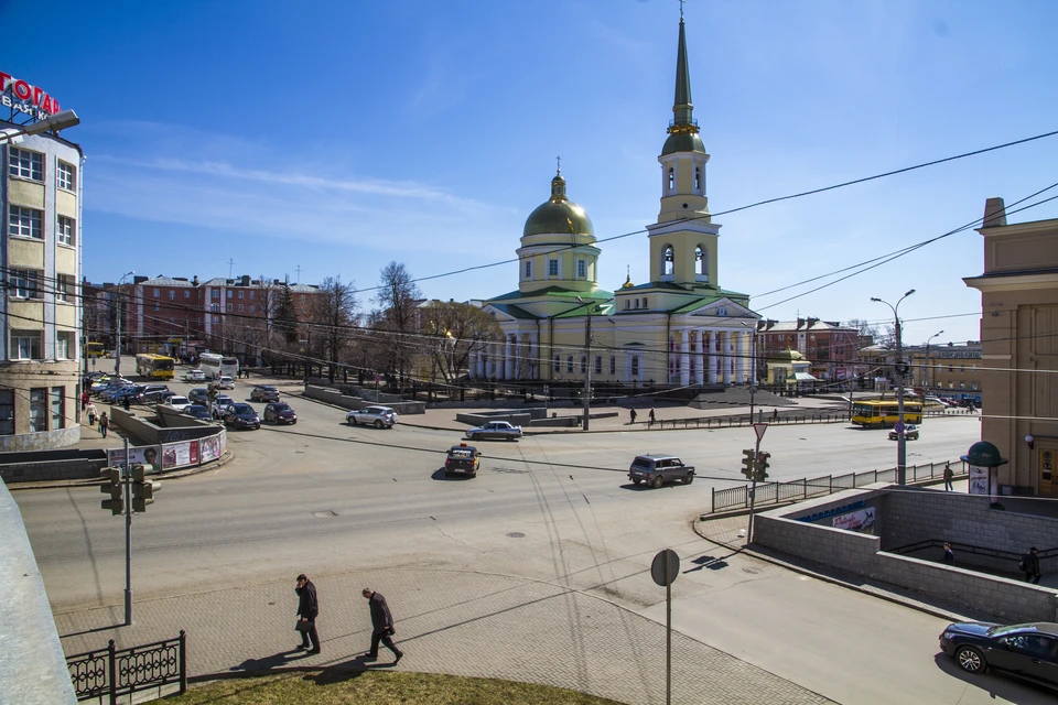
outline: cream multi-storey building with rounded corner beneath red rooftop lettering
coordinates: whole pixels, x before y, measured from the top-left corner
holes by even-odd
[[[0,130],[20,126],[0,121]],[[0,452],[80,440],[80,148],[40,133],[0,142]]]

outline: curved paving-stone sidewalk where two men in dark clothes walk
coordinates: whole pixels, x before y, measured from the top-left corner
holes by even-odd
[[[188,674],[301,668],[388,668],[356,657],[370,642],[371,587],[386,596],[404,650],[398,670],[499,677],[573,688],[629,704],[665,702],[665,626],[586,593],[506,575],[445,570],[342,572],[310,576],[320,596],[323,653],[293,651],[294,576],[55,615],[67,655],[119,649],[187,631]],[[672,702],[694,704],[832,701],[678,632]]]

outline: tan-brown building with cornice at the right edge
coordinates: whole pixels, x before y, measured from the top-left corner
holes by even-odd
[[[1007,224],[989,198],[981,292],[981,438],[1006,465],[1000,484],[1058,497],[1058,219]]]

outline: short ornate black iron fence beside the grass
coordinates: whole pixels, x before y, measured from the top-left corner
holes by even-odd
[[[183,629],[165,639],[130,649],[86,651],[66,659],[78,701],[98,699],[116,705],[118,697],[177,683],[187,691],[187,639]]]

